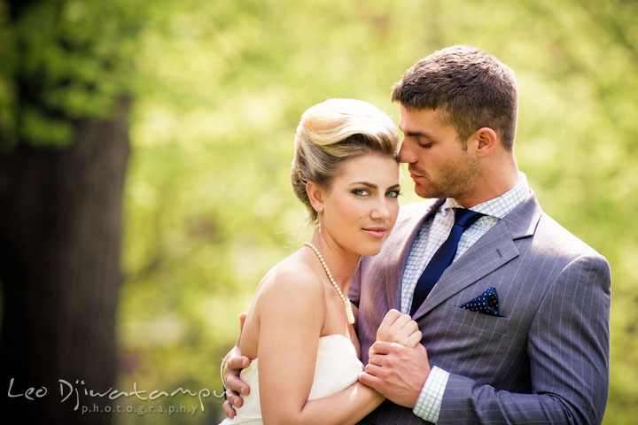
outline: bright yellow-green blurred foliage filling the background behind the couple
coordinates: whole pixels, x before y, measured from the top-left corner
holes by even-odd
[[[29,66],[48,70],[47,104],[73,116],[105,111],[116,92],[130,91],[136,99],[119,313],[122,390],[137,383],[146,390],[221,391],[219,363],[234,344],[238,313],[248,308],[268,268],[307,237],[304,208],[289,183],[300,114],[327,97],[354,97],[396,120],[392,83],[418,58],[467,43],[517,73],[518,165],[541,205],[611,262],[611,391],[604,423],[635,421],[638,4],[66,4],[61,27],[51,29],[46,19],[24,24],[27,40],[42,50]],[[0,6],[0,22],[5,14]],[[49,31],[76,44],[96,36],[104,43],[67,58],[58,55]],[[4,47],[0,42],[0,51],[7,50],[12,40],[1,26],[0,36],[9,40]],[[10,69],[0,64],[3,75]],[[65,75],[80,82],[57,90]],[[85,96],[89,86],[98,88],[97,96]],[[5,107],[11,96],[11,85],[0,79],[4,128],[12,124]],[[14,129],[35,142],[59,143],[63,129],[47,127],[41,118],[35,113]],[[58,133],[49,141],[38,136]],[[417,200],[409,177],[403,193],[402,203]],[[188,397],[183,402],[197,405]],[[211,397],[206,413],[189,420],[121,414],[117,421],[204,423],[217,419],[219,406]]]

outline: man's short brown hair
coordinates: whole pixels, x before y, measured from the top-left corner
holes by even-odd
[[[478,128],[501,135],[512,149],[517,127],[517,81],[509,66],[471,46],[438,50],[416,62],[393,86],[408,110],[439,110],[464,142]]]

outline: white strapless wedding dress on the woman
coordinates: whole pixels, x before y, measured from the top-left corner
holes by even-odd
[[[220,425],[242,423],[257,425],[261,421],[261,406],[259,392],[259,372],[257,360],[253,359],[249,367],[239,375],[250,386],[250,394],[244,396],[244,404],[235,409],[237,415],[233,419],[226,418]],[[308,400],[328,397],[346,390],[356,383],[363,370],[362,362],[357,358],[352,342],[346,336],[333,334],[319,338],[317,360],[315,364],[315,378]]]

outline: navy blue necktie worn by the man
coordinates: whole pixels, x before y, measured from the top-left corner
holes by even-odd
[[[424,273],[421,274],[418,282],[416,282],[410,315],[416,313],[416,309],[423,304],[425,297],[427,297],[432,288],[434,288],[434,284],[439,282],[441,274],[452,264],[452,260],[456,255],[456,248],[458,248],[458,243],[461,240],[463,232],[484,215],[463,208],[455,208],[454,210],[455,224],[452,226],[447,240],[440,246],[439,250],[434,252],[430,263],[425,267]]]

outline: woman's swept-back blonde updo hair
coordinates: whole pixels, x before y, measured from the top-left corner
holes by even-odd
[[[315,104],[301,115],[295,135],[292,189],[315,220],[317,213],[307,196],[307,182],[329,189],[341,163],[368,153],[398,162],[398,144],[393,120],[372,104],[354,99]]]

